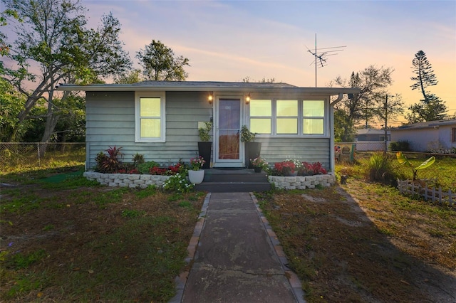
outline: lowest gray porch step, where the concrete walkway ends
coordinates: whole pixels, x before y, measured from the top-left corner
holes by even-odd
[[[196,191],[211,193],[240,193],[250,191],[269,191],[269,182],[203,182],[195,186]]]

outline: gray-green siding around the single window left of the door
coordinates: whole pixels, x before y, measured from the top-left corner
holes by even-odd
[[[163,164],[190,161],[198,152],[198,122],[212,117],[206,100],[205,92],[167,92],[166,142],[135,143],[135,93],[88,92],[86,166],[93,168],[98,152],[113,146],[122,147],[125,162],[137,152]]]

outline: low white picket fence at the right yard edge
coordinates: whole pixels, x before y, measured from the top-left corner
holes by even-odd
[[[439,189],[428,188],[427,181],[429,180],[420,180],[419,182],[413,180],[399,180],[398,179],[398,188],[400,193],[410,193],[411,195],[418,194],[425,198],[425,201],[432,200],[432,202],[448,203],[450,206],[455,204],[456,206],[456,193],[452,193],[451,189],[448,191],[442,191],[442,187]],[[423,185],[424,184],[424,187]]]

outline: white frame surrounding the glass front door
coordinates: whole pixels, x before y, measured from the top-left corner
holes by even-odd
[[[220,99],[234,99],[239,100],[239,132],[241,131],[242,125],[244,125],[244,95],[232,94],[232,95],[217,95],[214,97],[214,161],[212,166],[217,167],[244,167],[244,144],[241,142],[239,137],[239,159],[219,159],[219,106]]]

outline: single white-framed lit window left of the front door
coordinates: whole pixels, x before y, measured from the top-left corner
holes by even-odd
[[[165,94],[136,95],[135,142],[165,142]]]

